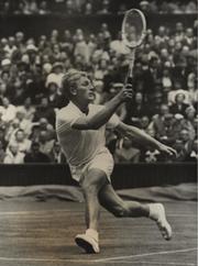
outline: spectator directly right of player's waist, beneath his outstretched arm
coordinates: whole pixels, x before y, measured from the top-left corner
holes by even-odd
[[[116,163],[139,163],[140,149],[132,146],[132,141],[128,137],[121,140],[120,147],[116,149]]]

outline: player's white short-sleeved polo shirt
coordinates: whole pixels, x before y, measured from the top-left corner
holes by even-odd
[[[99,112],[103,107],[89,104],[89,115]],[[106,146],[106,126],[114,129],[119,118],[113,114],[109,122],[98,130],[75,130],[72,125],[86,117],[73,102],[61,109],[56,114],[56,133],[67,163],[72,166],[84,165],[95,157]]]

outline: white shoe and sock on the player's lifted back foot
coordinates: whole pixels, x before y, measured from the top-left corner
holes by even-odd
[[[172,226],[166,220],[164,206],[161,203],[152,203],[150,206],[150,218],[154,220],[162,233],[162,236],[169,241],[172,239]]]

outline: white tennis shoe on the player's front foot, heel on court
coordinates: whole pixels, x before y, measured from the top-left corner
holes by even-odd
[[[94,235],[87,232],[85,234],[77,234],[75,237],[75,242],[79,247],[85,250],[86,253],[91,254],[100,252],[97,237],[94,237]]]

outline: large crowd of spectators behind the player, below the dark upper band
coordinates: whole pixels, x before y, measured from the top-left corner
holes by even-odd
[[[195,23],[196,27],[196,23]],[[138,48],[132,101],[118,110],[120,119],[176,148],[177,157],[141,146],[107,131],[116,162],[193,162],[197,159],[196,29],[178,22],[174,29],[147,30]],[[85,34],[53,30],[50,36],[26,38],[23,32],[0,40],[0,163],[64,163],[55,134],[55,113],[67,103],[61,80],[69,68],[88,71],[95,103],[102,104],[122,87],[129,49],[106,23]]]

